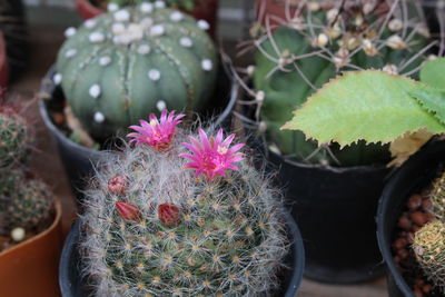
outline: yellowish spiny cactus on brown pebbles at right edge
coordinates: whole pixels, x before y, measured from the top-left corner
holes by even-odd
[[[433,182],[429,194],[435,220],[415,232],[413,250],[427,278],[445,294],[445,174]]]

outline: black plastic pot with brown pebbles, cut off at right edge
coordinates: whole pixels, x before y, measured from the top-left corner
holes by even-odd
[[[382,194],[377,212],[377,239],[388,269],[390,297],[414,297],[413,290],[397,270],[390,245],[396,236],[397,220],[411,194],[423,190],[445,165],[445,141],[431,141],[412,156],[389,179]]]

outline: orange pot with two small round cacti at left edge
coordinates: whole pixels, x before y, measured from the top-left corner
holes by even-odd
[[[0,286],[4,296],[56,297],[61,207],[20,165],[30,130],[14,109],[0,107]]]

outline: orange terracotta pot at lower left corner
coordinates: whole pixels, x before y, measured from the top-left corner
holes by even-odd
[[[61,205],[43,232],[0,253],[0,295],[9,297],[60,296],[58,265],[62,247]]]

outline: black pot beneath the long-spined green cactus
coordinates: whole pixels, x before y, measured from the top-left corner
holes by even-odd
[[[246,118],[251,109],[241,109]],[[382,166],[334,168],[306,165],[267,149],[245,127],[250,147],[278,170],[286,204],[305,241],[305,277],[328,284],[370,280],[384,273],[375,238],[375,214],[385,177]]]

